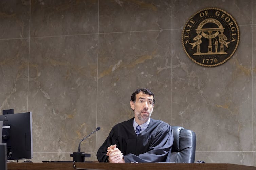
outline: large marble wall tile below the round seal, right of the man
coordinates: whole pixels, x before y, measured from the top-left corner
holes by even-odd
[[[181,32],[172,38],[181,39]],[[213,68],[193,63],[181,43],[173,44],[172,125],[195,131],[197,151],[252,150],[250,26],[240,32],[233,57]]]

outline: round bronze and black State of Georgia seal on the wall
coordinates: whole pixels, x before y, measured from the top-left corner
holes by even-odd
[[[182,31],[182,46],[195,63],[214,67],[235,53],[239,28],[235,19],[218,8],[205,8],[191,16]]]

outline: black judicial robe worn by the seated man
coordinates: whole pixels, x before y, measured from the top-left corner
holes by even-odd
[[[125,162],[165,162],[173,144],[169,124],[150,118],[148,127],[137,136],[133,128],[134,118],[115,125],[97,152],[99,162],[106,162],[107,148],[117,145]]]

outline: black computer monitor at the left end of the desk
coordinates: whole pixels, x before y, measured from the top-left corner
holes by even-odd
[[[3,121],[2,143],[6,143],[7,160],[32,159],[32,113],[0,115]]]

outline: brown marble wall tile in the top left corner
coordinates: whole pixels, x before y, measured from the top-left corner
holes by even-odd
[[[0,2],[0,39],[29,37],[30,1]]]

